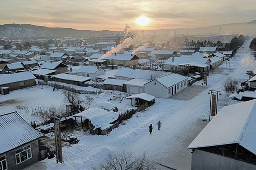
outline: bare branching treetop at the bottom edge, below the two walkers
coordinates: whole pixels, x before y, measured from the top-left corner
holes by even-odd
[[[155,170],[159,169],[145,154],[141,157],[136,157],[131,152],[121,152],[109,154],[102,164],[98,167],[93,167],[94,170]]]

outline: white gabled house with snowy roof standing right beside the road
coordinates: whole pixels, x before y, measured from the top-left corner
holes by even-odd
[[[187,79],[188,78],[185,76],[170,73],[144,84],[144,91],[145,93],[155,97],[169,98],[179,91],[187,88]]]

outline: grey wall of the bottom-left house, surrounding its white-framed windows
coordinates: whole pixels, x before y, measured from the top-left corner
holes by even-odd
[[[30,159],[25,160],[22,163],[16,164],[16,157],[15,157],[15,151],[29,145],[31,146],[31,153],[32,157]],[[6,156],[7,161],[7,167],[8,169],[24,169],[25,167],[37,162],[39,160],[39,147],[38,147],[38,140],[32,141],[28,144],[25,144],[23,146],[17,147],[11,151],[8,151],[4,154],[1,154],[0,157]]]

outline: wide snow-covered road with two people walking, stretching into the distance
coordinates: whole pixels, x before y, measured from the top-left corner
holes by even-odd
[[[249,42],[246,42],[243,48],[238,50],[237,55],[239,57],[236,57],[236,61],[248,57],[245,56],[246,52],[249,51],[248,46]],[[250,58],[252,57],[250,56]],[[248,65],[243,65],[242,62],[239,63],[236,69],[230,73],[230,76],[239,77],[249,69]],[[137,153],[147,152],[147,155],[150,155],[156,162],[175,169],[190,169],[191,153],[186,148],[206,125],[201,119],[204,116],[207,117],[209,113],[210,97],[208,90],[220,90],[222,82],[227,77],[218,80],[193,99],[182,101],[181,104],[177,102],[175,104],[177,111],[167,119],[162,120],[161,131],[156,130],[155,125],[153,135],[148,133],[142,135],[126,149]]]

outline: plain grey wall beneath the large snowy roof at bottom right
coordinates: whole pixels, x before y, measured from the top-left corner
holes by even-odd
[[[256,169],[256,165],[195,149],[192,153],[192,170],[211,169]]]

